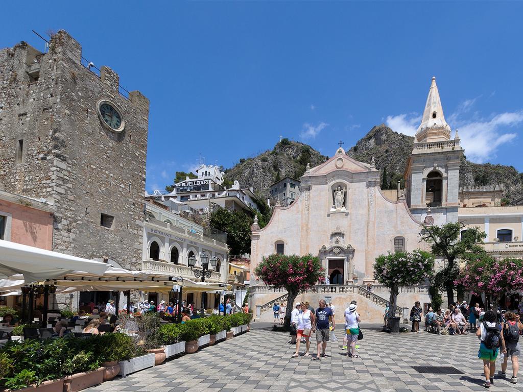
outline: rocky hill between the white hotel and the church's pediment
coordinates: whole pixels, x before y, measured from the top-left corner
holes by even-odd
[[[260,198],[266,199],[270,185],[280,178],[299,179],[308,163],[311,167],[325,162],[327,157],[309,145],[282,139],[273,149],[254,158],[240,159],[240,163],[225,170],[225,186],[237,180],[242,187],[253,187]]]

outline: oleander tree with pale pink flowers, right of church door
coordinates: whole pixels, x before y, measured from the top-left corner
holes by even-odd
[[[423,250],[380,255],[374,263],[374,279],[391,290],[389,318],[396,312],[400,287],[419,284],[434,273],[434,256]]]

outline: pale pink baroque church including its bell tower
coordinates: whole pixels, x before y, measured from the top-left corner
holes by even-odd
[[[313,287],[297,300],[310,301],[315,307],[320,299],[327,298],[336,308],[344,309],[357,299],[363,318],[380,322],[383,300],[388,301],[389,292],[374,282],[373,265],[379,255],[426,249],[420,240],[424,225],[461,221],[466,229],[467,225],[476,226],[474,219],[482,221],[477,214],[460,213],[467,210],[459,188],[464,150],[457,132],[453,139],[451,133],[433,77],[408,158],[404,190],[393,192],[393,197],[391,191],[382,191],[374,160],[370,165],[357,162],[341,147],[325,163],[308,167],[301,177],[298,199],[290,206],[277,206],[264,228],[256,222],[251,228],[251,306],[255,317],[265,319],[264,314],[271,313],[274,302],[286,303],[285,292],[265,286],[253,273],[263,257],[272,253],[311,253],[320,258],[330,284]],[[485,190],[478,192],[484,195]],[[474,190],[467,194],[474,199]],[[523,235],[523,208],[516,209],[514,229]],[[496,209],[490,210],[491,216],[496,214]],[[437,267],[439,263],[437,260]],[[368,283],[373,285],[371,293],[365,290]],[[430,302],[427,286],[402,289],[400,306],[407,309],[415,301]],[[337,317],[340,315],[343,312],[338,312]]]

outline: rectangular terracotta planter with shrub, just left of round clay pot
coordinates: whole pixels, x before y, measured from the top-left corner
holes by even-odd
[[[93,352],[80,351],[67,359],[63,371],[69,376],[64,380],[64,392],[77,392],[104,382],[105,367],[99,366]]]

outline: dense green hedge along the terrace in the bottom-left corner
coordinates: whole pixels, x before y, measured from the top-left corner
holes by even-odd
[[[133,339],[123,333],[8,341],[0,348],[0,388],[20,389],[95,370],[103,362],[128,360],[136,353]]]

